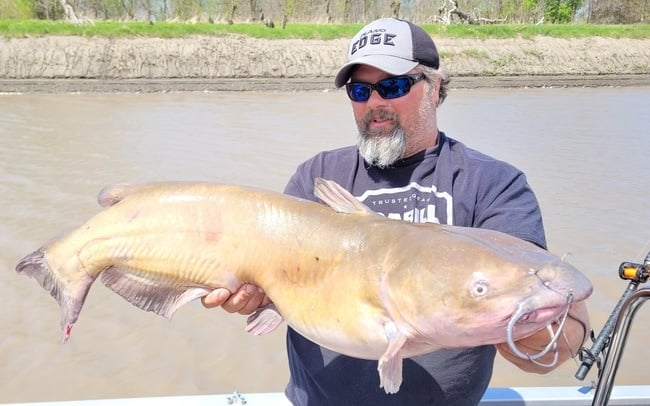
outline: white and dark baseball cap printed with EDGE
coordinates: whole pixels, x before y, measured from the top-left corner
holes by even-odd
[[[334,85],[343,86],[359,64],[403,75],[418,64],[437,69],[440,59],[431,36],[421,27],[406,20],[380,18],[352,38],[348,61],[336,74]]]

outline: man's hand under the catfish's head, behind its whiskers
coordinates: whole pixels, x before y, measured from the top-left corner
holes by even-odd
[[[557,331],[557,325],[553,324],[554,331]],[[556,367],[560,366],[564,361],[573,358],[578,354],[578,351],[584,344],[589,336],[591,327],[589,325],[589,316],[587,314],[587,306],[584,301],[574,303],[569,309],[569,315],[564,323],[563,332],[557,341],[558,359],[557,363],[551,367],[537,365],[527,359],[522,359],[512,352],[507,343],[497,344],[497,350],[508,361],[517,365],[519,368],[526,372],[535,372],[538,374],[545,374]],[[530,337],[515,342],[517,347],[525,353],[535,355],[540,352],[550,341],[549,333],[546,329],[540,330]],[[549,351],[548,354],[538,359],[537,361],[544,364],[549,364],[553,361],[555,352]]]

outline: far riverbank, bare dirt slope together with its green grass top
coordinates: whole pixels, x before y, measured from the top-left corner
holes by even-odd
[[[0,93],[333,90],[362,24],[0,20]],[[430,24],[452,87],[650,86],[650,24]]]

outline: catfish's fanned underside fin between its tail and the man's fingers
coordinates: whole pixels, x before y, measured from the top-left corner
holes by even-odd
[[[102,283],[129,303],[168,319],[184,304],[214,289],[209,286],[188,286],[160,274],[118,267],[107,268],[101,275]]]

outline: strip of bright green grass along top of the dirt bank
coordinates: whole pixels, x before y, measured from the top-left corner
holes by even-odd
[[[71,24],[61,21],[43,20],[0,20],[0,36],[5,38],[76,35],[101,37],[160,37],[174,38],[190,35],[243,34],[256,38],[298,38],[334,39],[351,38],[363,24],[306,24],[289,23],[286,29],[276,26],[268,28],[261,23],[167,23],[150,25],[146,22],[97,21],[86,24]],[[440,25],[423,26],[434,38],[533,38],[538,35],[580,38],[650,38],[650,24],[593,25],[593,24],[492,24],[492,25]]]

